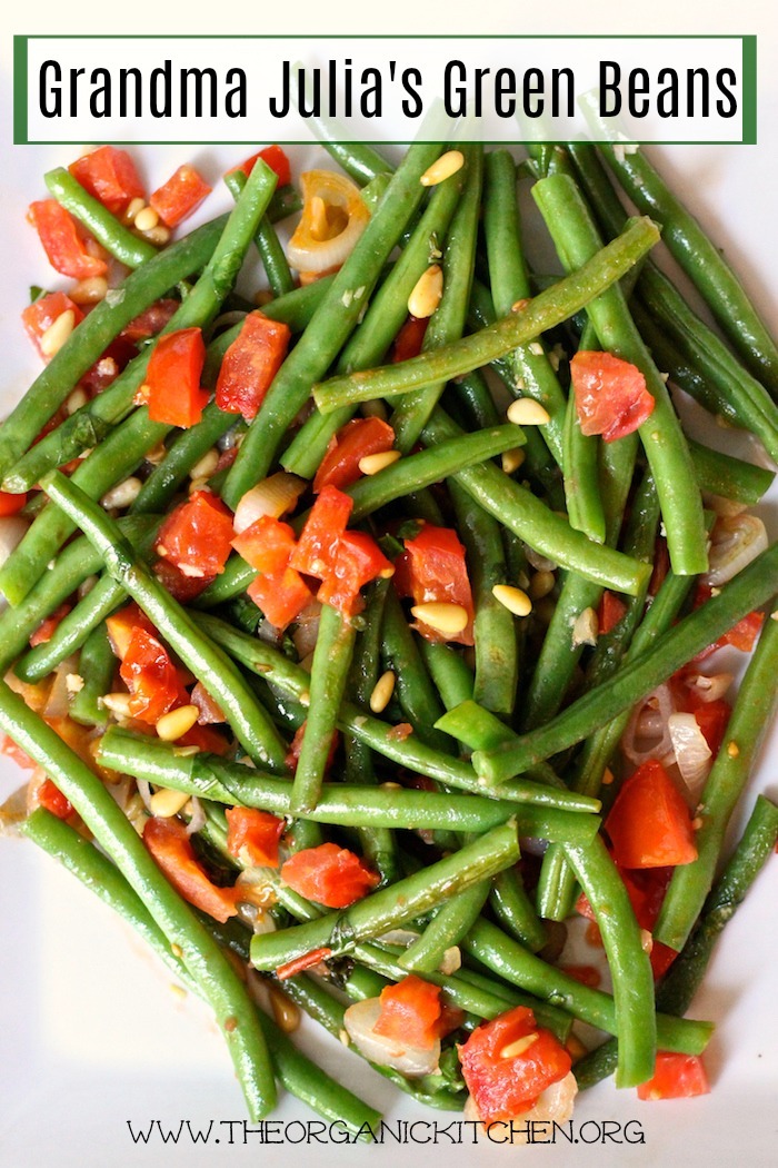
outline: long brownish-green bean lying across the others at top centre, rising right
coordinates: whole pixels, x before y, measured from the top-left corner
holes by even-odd
[[[314,401],[322,413],[329,413],[346,403],[369,402],[392,394],[409,394],[489,364],[579,312],[621,279],[658,238],[654,224],[650,220],[639,220],[618,241],[603,248],[594,260],[560,280],[553,288],[541,292],[519,312],[511,313],[479,333],[464,336],[444,348],[422,353],[409,361],[401,361],[397,366],[332,377],[314,387]]]

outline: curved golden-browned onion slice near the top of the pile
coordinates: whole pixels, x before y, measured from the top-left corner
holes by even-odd
[[[300,186],[302,218],[289,239],[289,263],[299,272],[341,267],[370,220],[359,187],[332,171],[307,171]]]

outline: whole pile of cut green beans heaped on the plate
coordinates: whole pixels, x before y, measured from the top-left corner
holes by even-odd
[[[31,805],[45,772],[71,806],[63,819],[38,806],[22,834],[210,1004],[252,1120],[272,1111],[278,1082],[364,1138],[379,1113],[296,1049],[257,1007],[247,976],[338,1038],[350,1003],[411,973],[439,987],[441,1003],[461,1011],[439,1068],[415,1080],[371,1064],[433,1107],[462,1108],[457,1044],[516,1006],[561,1042],[576,1022],[611,1036],[575,1064],[581,1086],[610,1073],[635,1086],[652,1078],[658,1050],[705,1050],[713,1024],[682,1015],[778,832],[778,812],[759,797],[716,883],[776,709],[778,545],[768,542],[698,603],[717,535],[705,508],[731,516],[756,506],[773,475],[692,438],[666,382],[775,458],[778,350],[642,153],[604,147],[603,161],[582,144],[538,147],[517,168],[509,152],[479,144],[449,155],[443,142],[418,142],[393,167],[364,145],[324,146],[364,187],[370,218],[343,265],[301,287],[273,225],[299,199],[276,192],[261,162],[247,179],[225,176],[229,215],[161,250],[68,171],[45,176],[129,273],[0,426],[2,491],[33,493],[26,534],[0,566],[0,729],[37,767]],[[450,159],[453,172],[428,186],[430,167]],[[643,217],[628,218],[605,164]],[[530,174],[534,227],[517,192]],[[548,237],[562,274],[531,270],[530,230]],[[727,339],[654,263],[660,237]],[[433,264],[440,301],[418,353],[395,361],[409,299]],[[213,397],[189,429],[152,422],[136,401],[152,338],[37,440],[122,329],[166,296],[177,307],[162,335],[201,329],[211,394],[257,311],[236,296],[239,276],[241,288],[252,279],[268,287],[255,303],[292,334],[253,420]],[[569,371],[579,350],[643,374],[653,412],[637,431],[612,443],[582,433]],[[521,425],[506,419],[511,399],[509,419]],[[168,591],[160,526],[188,493],[209,491],[232,513],[272,473],[299,475],[299,498],[276,516],[297,537],[322,460],[344,427],[371,416],[392,427],[395,460],[376,473],[360,465],[343,489],[350,528],[372,536],[392,569],[367,583],[352,614],[310,605],[288,631],[273,628],[247,592],[258,573],[237,551],[216,577],[185,580],[191,599]],[[111,508],[108,492],[129,477],[139,479],[132,501]],[[439,634],[434,618],[426,626],[411,612],[404,542],[425,526],[450,529],[462,545],[471,640],[446,631],[446,612]],[[425,602],[447,605],[454,569],[426,568]],[[315,592],[314,577],[307,583]],[[604,631],[607,590],[623,611]],[[210,745],[222,753],[202,737],[167,741],[161,718],[152,726],[122,712],[132,707],[122,707],[121,623],[110,618],[131,602],[171,654],[176,704],[196,707],[201,725],[218,722]],[[680,954],[654,989],[645,931],[608,844],[608,812],[629,774],[619,741],[638,703],[738,623],[751,627],[755,609],[764,626],[693,812],[698,858],[675,868],[653,927]],[[166,799],[177,809],[163,816]],[[231,808],[283,821],[279,867],[252,867],[234,847]],[[187,825],[201,872],[234,887],[226,924],[154,863],[142,842],[153,815]],[[282,867],[332,844],[356,854],[374,884],[343,906],[303,896]],[[579,894],[600,929],[609,993],[581,985],[552,952]]]

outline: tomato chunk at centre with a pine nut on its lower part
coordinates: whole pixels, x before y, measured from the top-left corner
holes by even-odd
[[[458,604],[468,613],[468,624],[461,633],[446,635],[422,621],[414,625],[428,641],[458,641],[472,645],[475,609],[468,577],[464,548],[456,531],[448,527],[425,523],[413,540],[405,540],[405,552],[397,559],[395,588],[400,596],[413,597],[414,604],[437,600]]]

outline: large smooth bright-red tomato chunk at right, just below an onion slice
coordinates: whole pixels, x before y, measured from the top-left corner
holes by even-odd
[[[670,868],[698,856],[689,809],[661,763],[653,758],[622,786],[605,832],[622,868]]]

